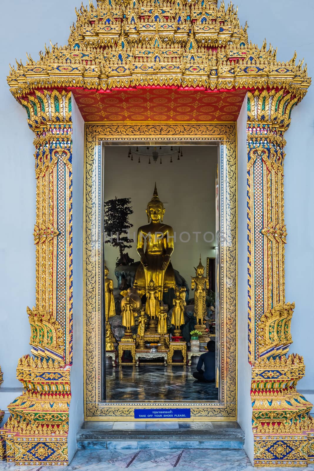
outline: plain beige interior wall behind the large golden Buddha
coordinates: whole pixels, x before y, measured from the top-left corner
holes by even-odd
[[[157,146],[158,149],[158,146]],[[135,231],[132,249],[127,250],[135,261],[140,260],[136,252],[136,234],[138,227],[147,224],[146,207],[149,203],[155,181],[159,198],[165,206],[165,224],[173,227],[176,242],[171,257],[173,268],[178,270],[187,280],[190,287],[191,276],[202,255],[203,265],[206,257],[214,257],[215,242],[205,242],[204,234],[211,231],[215,234],[215,178],[218,163],[217,146],[183,146],[183,157],[177,156],[170,163],[170,157],[164,157],[149,165],[148,159],[133,155],[133,161],[127,157],[128,147],[106,146],[104,159],[104,199],[131,198],[133,214],[130,222],[133,224],[131,234]],[[190,234],[189,242],[181,242],[181,233]],[[201,232],[196,243],[196,235]],[[181,235],[182,240],[188,240],[187,234]],[[212,240],[211,235],[205,239]],[[114,269],[118,257],[118,249],[105,244],[105,260],[110,270],[110,278],[117,286]]]

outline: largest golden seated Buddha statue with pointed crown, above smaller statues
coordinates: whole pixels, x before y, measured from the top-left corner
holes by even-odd
[[[143,296],[147,292],[149,281],[153,280],[158,291],[158,299],[161,301],[163,293],[175,286],[170,262],[174,234],[173,228],[163,223],[165,208],[158,197],[156,183],[146,214],[149,224],[139,227],[137,231],[137,252],[141,257],[141,263],[136,270],[135,282],[138,284],[140,295]]]

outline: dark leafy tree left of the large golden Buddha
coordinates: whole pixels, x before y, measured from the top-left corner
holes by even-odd
[[[129,216],[133,214],[130,206],[131,198],[116,198],[104,203],[104,232],[105,244],[118,247],[120,258],[117,258],[117,266],[128,264],[128,254],[126,249],[132,247],[133,239],[129,238],[129,230],[133,224],[129,221]]]

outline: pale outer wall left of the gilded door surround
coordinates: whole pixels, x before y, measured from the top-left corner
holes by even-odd
[[[26,307],[35,304],[36,180],[34,133],[27,115],[11,95],[7,84],[8,65],[15,57],[26,61],[25,52],[38,59],[49,40],[66,44],[69,26],[76,20],[77,0],[43,2],[23,0],[1,5],[0,39],[0,366],[4,382],[0,409],[20,394],[16,379],[18,359],[30,352],[30,326]],[[62,14],[60,14],[62,12]]]

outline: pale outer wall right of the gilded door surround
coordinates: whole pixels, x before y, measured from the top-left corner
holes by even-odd
[[[305,57],[308,75],[314,76],[314,2],[304,0],[302,13],[294,0],[237,0],[240,23],[248,20],[248,35],[252,42],[262,45],[264,38],[278,48],[277,59],[290,60],[294,50],[297,62]],[[314,392],[313,331],[314,303],[314,88],[292,111],[292,121],[285,134],[287,146],[284,162],[286,301],[295,301],[291,323],[293,344],[290,353],[304,357],[306,375],[298,390]],[[308,397],[308,392],[306,398]],[[313,399],[313,398],[312,398]]]

